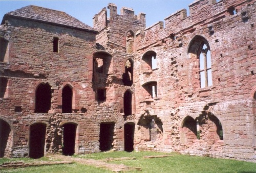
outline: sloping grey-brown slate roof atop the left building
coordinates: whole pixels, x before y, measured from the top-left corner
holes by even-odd
[[[5,18],[8,16],[32,19],[40,22],[57,24],[57,25],[66,26],[70,28],[82,29],[82,30],[98,33],[92,27],[88,26],[87,24],[84,24],[83,22],[70,16],[65,12],[51,10],[43,7],[37,7],[33,5],[26,6],[18,10],[6,13],[3,18],[2,24],[4,23]]]

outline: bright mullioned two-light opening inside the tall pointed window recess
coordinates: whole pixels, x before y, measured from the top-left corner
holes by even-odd
[[[203,43],[199,55],[201,88],[212,86],[211,57],[207,44]]]

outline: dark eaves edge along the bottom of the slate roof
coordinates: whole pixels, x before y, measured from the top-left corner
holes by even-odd
[[[16,16],[16,15],[13,15],[13,14],[5,14],[4,17],[3,17],[3,20],[2,20],[2,22],[1,22],[1,24],[4,24],[4,23],[5,23],[5,20],[6,20],[7,17],[21,18],[21,19],[31,20],[31,21],[40,21],[40,22],[47,23],[47,24],[54,24],[54,25],[56,25],[56,26],[68,27],[68,28],[71,28],[71,29],[78,29],[78,30],[82,30],[82,31],[88,31],[88,32],[91,32],[91,33],[94,33],[94,34],[98,34],[98,33],[99,33],[99,32],[96,31],[96,30],[90,30],[90,29],[85,29],[85,28],[79,28],[79,27],[69,26],[69,25],[67,25],[67,24],[60,24],[60,23],[55,23],[55,22],[50,22],[50,21],[45,21],[45,20],[32,19],[32,18],[23,17],[23,16]]]

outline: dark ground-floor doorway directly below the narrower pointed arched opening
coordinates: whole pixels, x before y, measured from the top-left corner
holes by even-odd
[[[77,125],[73,123],[66,123],[63,125],[62,154],[65,156],[72,156],[75,154],[76,128]]]

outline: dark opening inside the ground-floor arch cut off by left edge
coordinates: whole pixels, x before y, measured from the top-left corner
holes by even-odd
[[[5,153],[8,151],[8,138],[10,137],[11,128],[9,124],[0,119],[0,158],[5,156]]]

